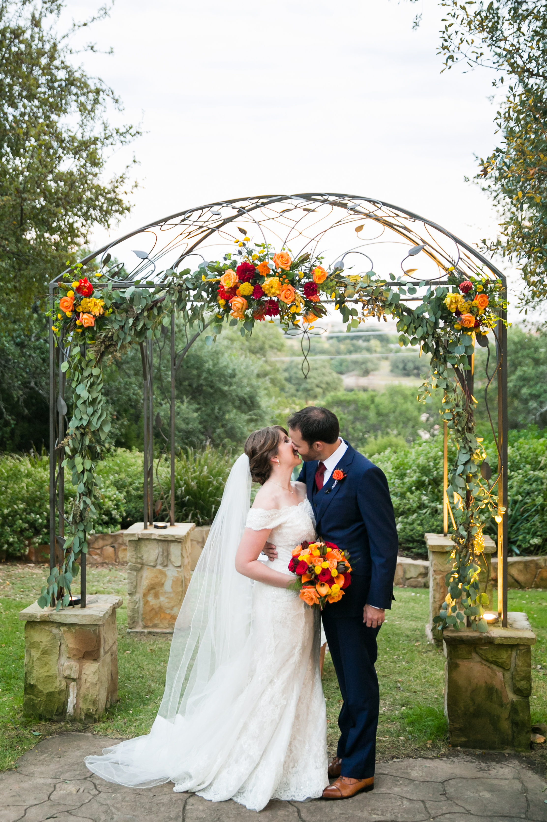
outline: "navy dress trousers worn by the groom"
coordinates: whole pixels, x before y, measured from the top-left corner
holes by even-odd
[[[342,776],[367,779],[374,776],[376,727],[380,691],[376,676],[380,628],[367,628],[358,617],[332,617],[338,603],[323,612],[323,627],[344,704],[338,718],[340,740],[337,755]]]

